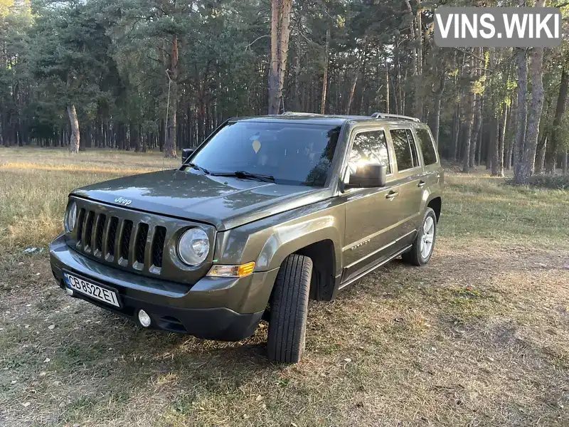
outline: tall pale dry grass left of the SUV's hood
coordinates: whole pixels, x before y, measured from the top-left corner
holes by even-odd
[[[119,176],[172,169],[160,153],[65,149],[0,149],[0,248],[46,246],[63,230],[72,189]]]

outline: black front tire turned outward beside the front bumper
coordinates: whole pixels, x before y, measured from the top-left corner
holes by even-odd
[[[280,266],[270,302],[269,359],[297,363],[304,353],[312,260],[292,254]]]

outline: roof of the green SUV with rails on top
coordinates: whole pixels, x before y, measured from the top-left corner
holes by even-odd
[[[403,115],[390,115],[381,112],[373,113],[371,116],[364,115],[323,115],[310,112],[285,112],[280,115],[262,115],[262,116],[248,116],[248,117],[232,117],[231,122],[276,122],[287,120],[290,122],[302,122],[307,125],[344,125],[348,120],[356,122],[371,122],[371,121],[413,121],[420,122],[415,117],[408,117]]]

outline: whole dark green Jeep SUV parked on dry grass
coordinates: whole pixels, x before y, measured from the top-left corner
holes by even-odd
[[[413,117],[232,118],[179,169],[72,191],[51,268],[142,327],[236,341],[265,319],[268,357],[298,362],[309,299],[399,255],[428,263],[442,183]]]

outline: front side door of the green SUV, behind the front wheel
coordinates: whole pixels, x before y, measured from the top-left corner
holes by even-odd
[[[356,172],[358,164],[384,164],[387,184],[382,188],[348,189],[346,231],[344,235],[344,274],[349,280],[395,252],[393,217],[400,209],[398,184],[393,181],[393,154],[384,129],[356,131],[352,137],[346,174]]]

